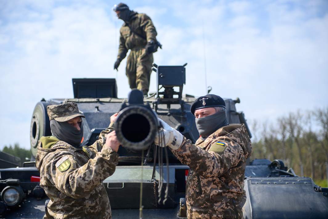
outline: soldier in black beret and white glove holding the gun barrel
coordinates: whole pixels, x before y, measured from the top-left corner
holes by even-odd
[[[188,218],[242,218],[246,201],[244,172],[252,145],[245,124],[230,124],[225,102],[216,95],[197,98],[191,106],[200,133],[195,144],[163,124],[173,154],[190,167],[186,204]],[[156,144],[159,137],[155,139]]]

